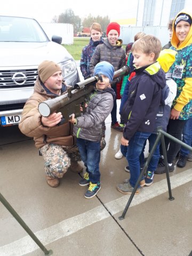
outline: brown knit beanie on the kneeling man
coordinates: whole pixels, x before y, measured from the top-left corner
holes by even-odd
[[[62,71],[61,67],[57,63],[50,60],[44,60],[38,66],[38,75],[42,83],[44,83],[50,76],[52,76],[57,71]]]

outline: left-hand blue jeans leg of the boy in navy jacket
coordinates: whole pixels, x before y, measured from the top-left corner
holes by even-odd
[[[127,147],[126,159],[130,166],[130,184],[135,186],[140,175],[139,157],[145,141],[150,136],[150,132],[135,132]],[[140,185],[139,185],[140,187]]]

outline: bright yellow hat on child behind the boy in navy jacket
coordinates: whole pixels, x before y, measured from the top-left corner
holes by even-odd
[[[164,49],[160,52],[157,61],[161,65],[165,73],[169,71],[173,63],[175,62],[175,54],[177,52],[171,49]]]

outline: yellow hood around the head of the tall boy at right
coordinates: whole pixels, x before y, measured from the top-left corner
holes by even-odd
[[[174,27],[174,23],[175,23],[175,20],[177,19],[178,15],[180,15],[181,13],[184,13],[184,14],[187,14],[190,16],[190,18],[192,19],[192,14],[187,11],[186,9],[183,9],[181,10],[177,16],[175,17],[175,19],[173,20],[173,34],[172,34],[172,38],[171,38],[171,44],[172,46],[174,46],[176,49],[180,50],[184,47],[186,47],[187,45],[191,44],[192,43],[192,26],[190,26],[190,30],[189,30],[189,33],[185,39],[185,41],[183,41],[179,46],[179,39],[177,38],[176,36],[176,33],[175,33],[175,27]]]

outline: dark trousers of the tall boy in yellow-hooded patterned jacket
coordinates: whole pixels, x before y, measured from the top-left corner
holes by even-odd
[[[187,120],[170,119],[169,124],[167,125],[167,133],[182,141],[182,131],[186,121]],[[169,149],[167,150],[167,162],[171,164],[177,156],[181,145],[165,137],[165,146],[166,148],[169,146]]]

